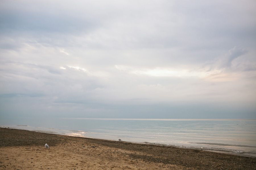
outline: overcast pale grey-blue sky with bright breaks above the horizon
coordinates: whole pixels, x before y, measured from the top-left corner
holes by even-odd
[[[255,0],[1,0],[0,117],[256,119],[255,16]]]

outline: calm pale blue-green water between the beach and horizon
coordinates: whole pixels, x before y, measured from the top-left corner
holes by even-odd
[[[4,118],[0,127],[256,157],[256,120]]]

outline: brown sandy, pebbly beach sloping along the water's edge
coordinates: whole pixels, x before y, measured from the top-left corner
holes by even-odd
[[[256,169],[256,158],[0,128],[0,169]]]

